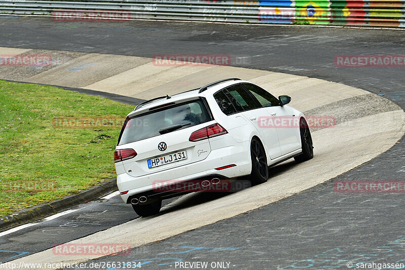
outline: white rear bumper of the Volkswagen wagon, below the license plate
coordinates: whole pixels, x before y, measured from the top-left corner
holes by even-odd
[[[252,169],[250,156],[247,157],[247,149],[249,149],[249,147],[249,142],[229,145],[212,150],[205,160],[145,176],[133,177],[127,173],[119,174],[117,175],[119,191],[123,192],[128,190],[127,194],[121,195],[121,199],[123,199],[125,203],[129,203],[129,198],[134,195],[143,195],[153,192],[156,196],[156,194],[159,193],[155,192],[156,188],[161,188],[169,183],[181,183],[193,179],[211,180],[213,178],[209,178],[211,176],[227,179],[248,175],[251,173]],[[223,170],[215,169],[230,164],[235,164],[236,166]],[[165,194],[160,195],[165,196]]]

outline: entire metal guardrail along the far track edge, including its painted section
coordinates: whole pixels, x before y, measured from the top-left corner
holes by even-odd
[[[92,11],[114,11],[126,19],[405,27],[405,0],[0,1],[0,13],[74,18],[73,11],[93,19],[100,15]]]

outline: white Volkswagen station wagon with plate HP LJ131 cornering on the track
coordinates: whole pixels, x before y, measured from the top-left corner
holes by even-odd
[[[311,159],[307,121],[290,100],[231,78],[142,102],[128,114],[114,153],[121,198],[149,216],[163,199],[191,190],[163,186],[240,176],[260,184],[270,166]]]

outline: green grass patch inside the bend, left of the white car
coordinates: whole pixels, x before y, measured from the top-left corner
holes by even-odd
[[[0,216],[115,177],[133,106],[50,86],[0,81]]]

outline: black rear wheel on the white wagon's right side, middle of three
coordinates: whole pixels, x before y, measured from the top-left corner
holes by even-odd
[[[252,139],[250,154],[252,160],[250,181],[252,185],[265,183],[269,177],[269,170],[267,167],[266,151],[259,139]]]

